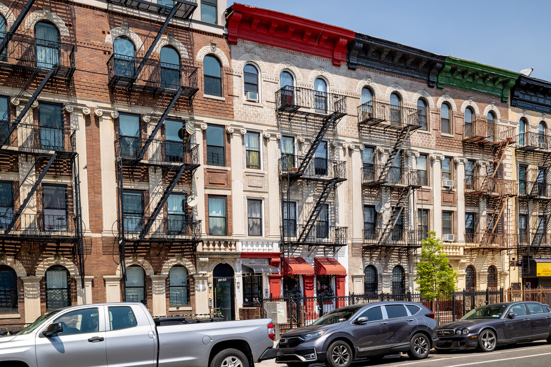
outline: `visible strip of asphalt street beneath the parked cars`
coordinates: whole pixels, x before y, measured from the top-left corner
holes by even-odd
[[[551,365],[551,344],[542,341],[498,347],[491,353],[476,350],[458,350],[449,353],[436,353],[434,350],[424,360],[411,360],[406,354],[387,356],[379,361],[361,360],[352,367],[363,366],[408,366],[408,367],[542,367]],[[284,367],[274,359],[255,364],[256,367]],[[322,366],[320,364],[311,367]]]

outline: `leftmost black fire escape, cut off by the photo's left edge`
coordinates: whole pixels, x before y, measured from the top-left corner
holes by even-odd
[[[58,89],[69,85],[75,70],[74,45],[17,33],[33,2],[14,1],[10,10],[18,9],[19,15],[9,31],[0,34],[0,71],[4,75],[9,73],[10,78],[21,80],[23,85],[19,94],[12,97],[6,113],[0,116],[0,154],[10,157],[11,162],[18,162],[18,166],[29,167],[19,186],[13,190],[10,206],[0,212],[0,240],[2,251],[13,251],[14,255],[25,243],[31,247],[39,246],[42,252],[70,254],[78,260],[84,287],[83,226],[75,131],[65,128],[63,121],[56,122],[62,127],[23,123],[25,115],[31,113],[31,107],[48,83],[55,83]],[[36,89],[30,90],[31,86],[36,86]],[[21,102],[25,103],[24,106],[13,116],[14,107]],[[73,214],[50,215],[29,207],[48,171],[51,168],[56,171],[66,169],[62,167],[71,169]],[[15,191],[23,185],[30,189],[18,205]]]

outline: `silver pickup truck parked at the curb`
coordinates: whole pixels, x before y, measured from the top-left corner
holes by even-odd
[[[197,321],[153,319],[141,303],[63,308],[0,337],[0,366],[252,367],[276,357],[271,319]]]

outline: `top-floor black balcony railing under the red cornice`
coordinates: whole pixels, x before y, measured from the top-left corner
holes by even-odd
[[[279,113],[335,114],[339,119],[347,114],[346,108],[346,96],[334,93],[294,86],[285,86],[276,92],[276,110]]]

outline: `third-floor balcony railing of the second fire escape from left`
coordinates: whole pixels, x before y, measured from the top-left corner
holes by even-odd
[[[137,136],[119,136],[115,140],[116,157],[129,160],[137,159],[147,140],[147,138],[138,138]],[[198,167],[199,145],[183,143],[182,141],[151,139],[151,143],[142,159],[158,166],[177,163]]]

